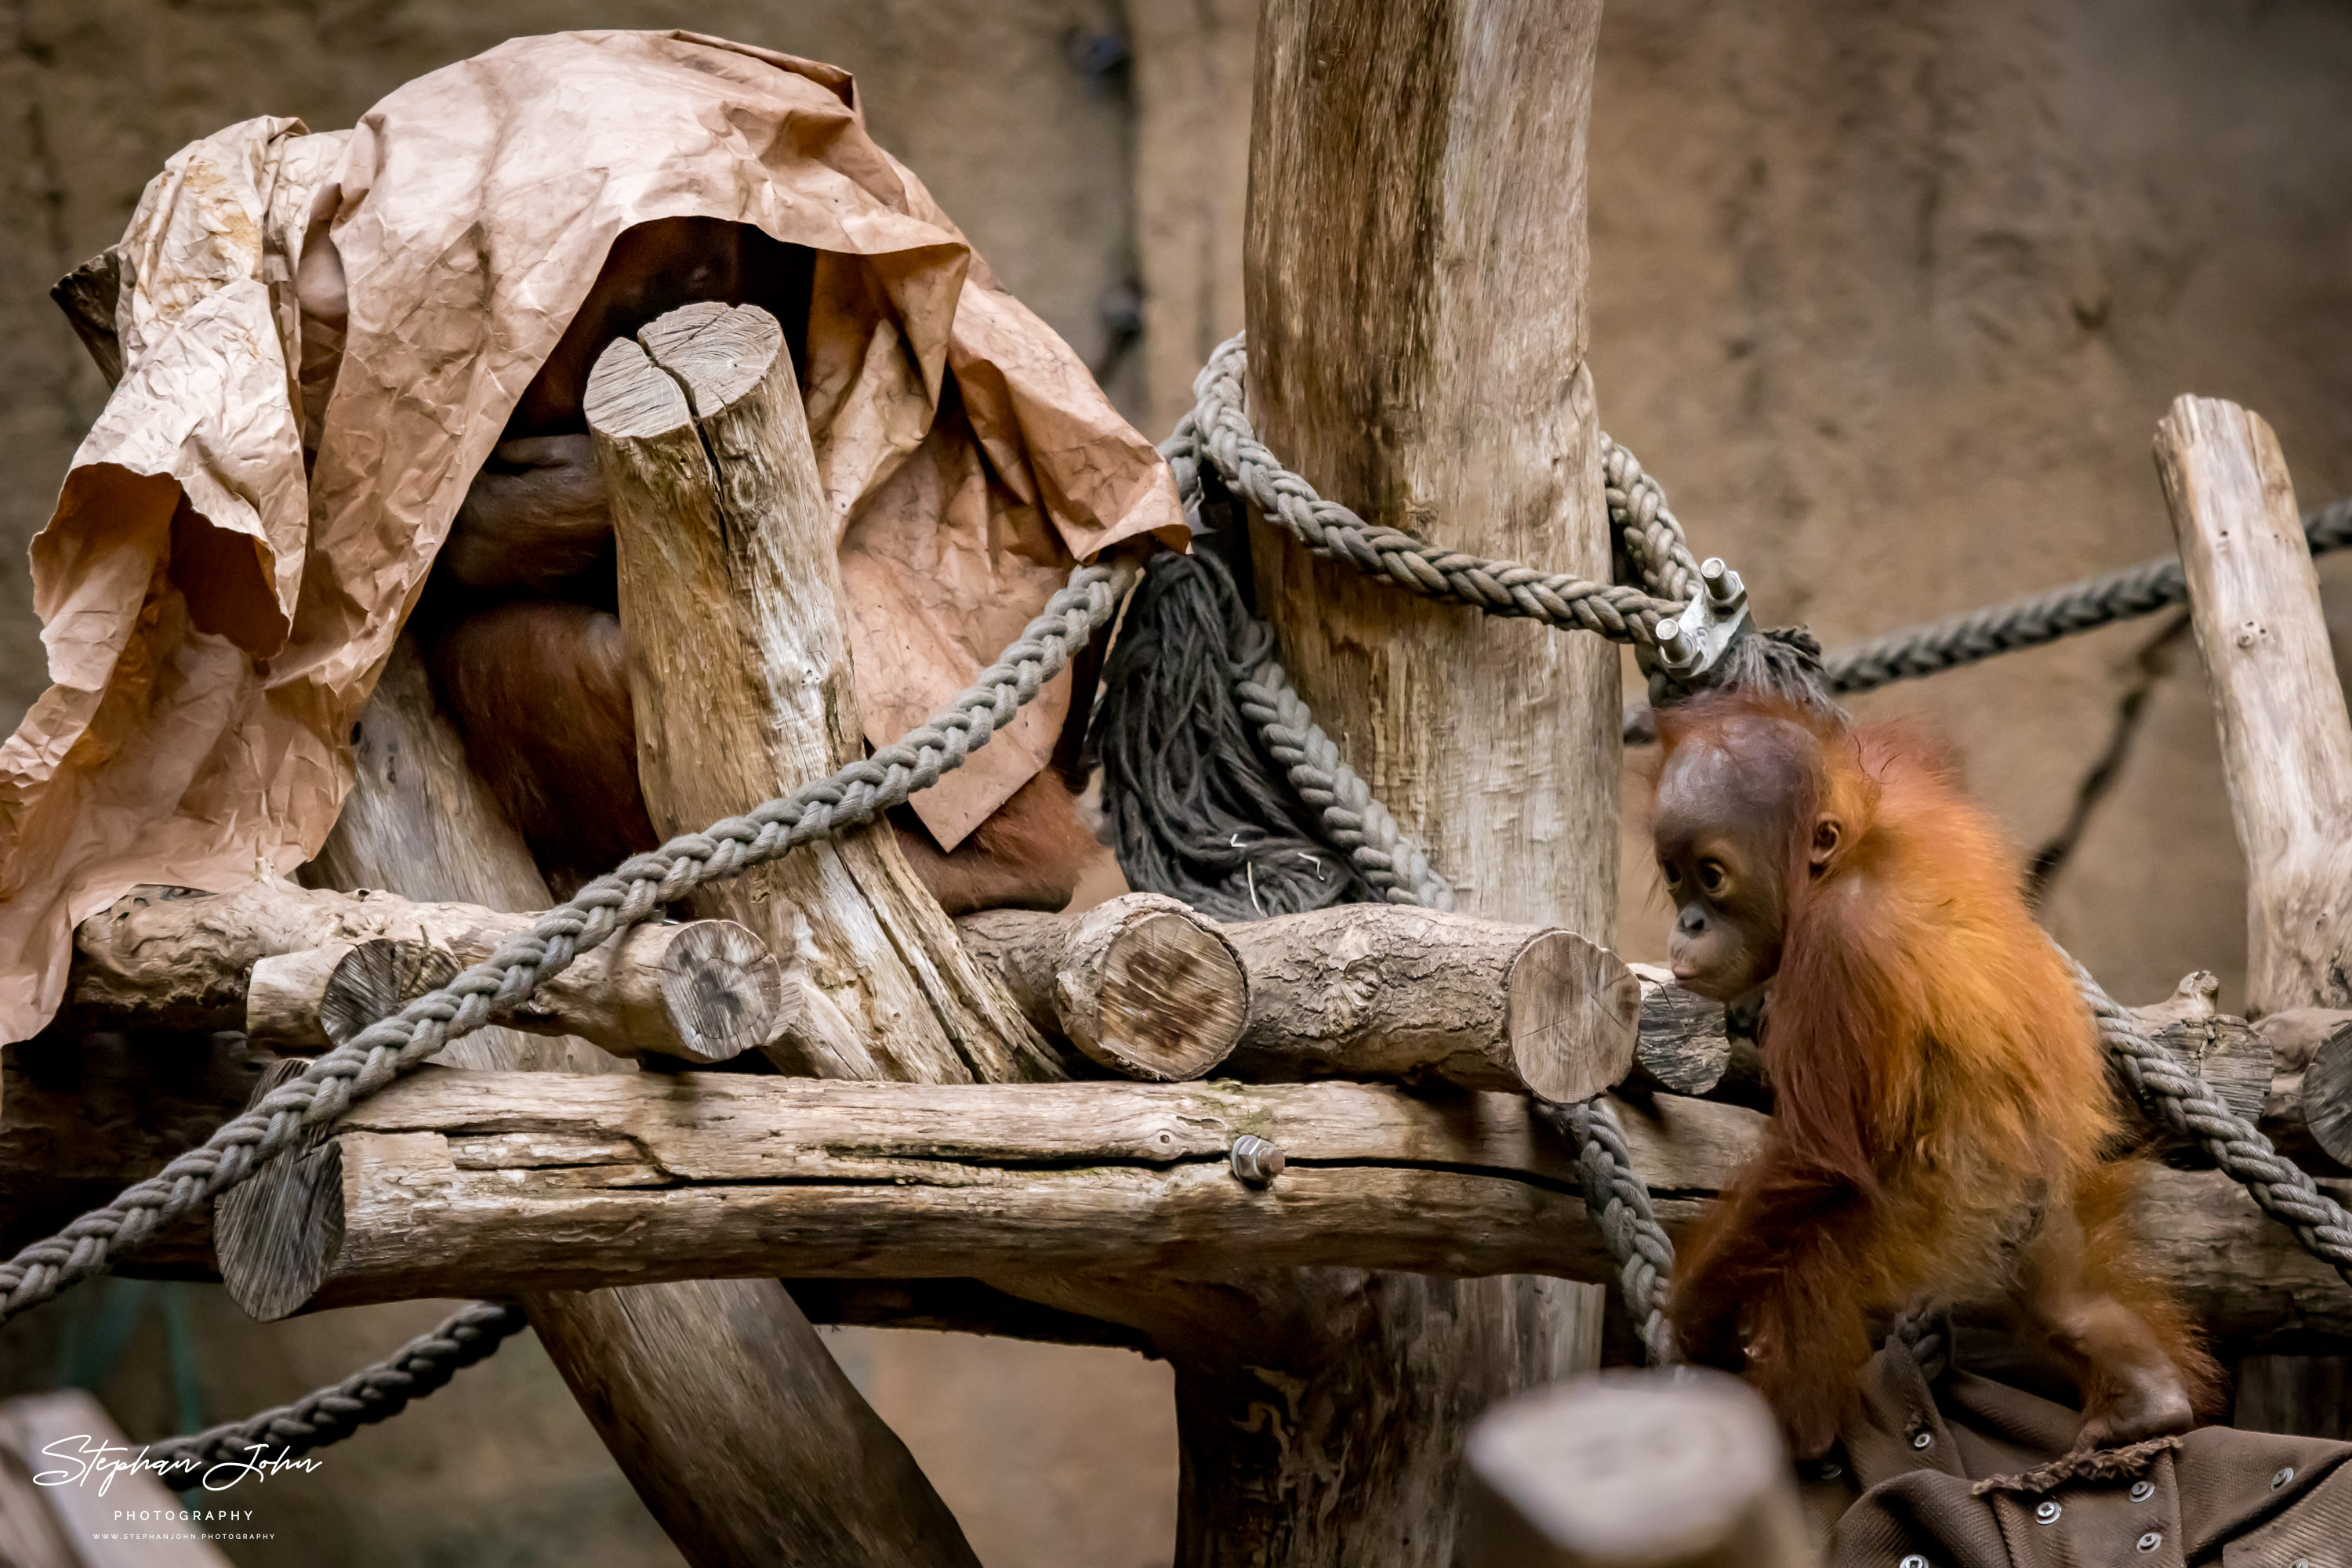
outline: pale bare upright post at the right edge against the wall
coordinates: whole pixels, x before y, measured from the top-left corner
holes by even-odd
[[[2157,475],[2246,851],[2246,1011],[2352,1006],[2352,717],[2279,437],[2237,404],[2178,397]]]

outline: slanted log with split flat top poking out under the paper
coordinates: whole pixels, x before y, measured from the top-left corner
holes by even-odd
[[[776,320],[757,306],[673,310],[597,357],[586,411],[612,491],[654,825],[699,832],[863,757],[835,517]],[[691,903],[807,961],[771,1046],[793,1072],[1063,1077],[887,830],[814,844]]]

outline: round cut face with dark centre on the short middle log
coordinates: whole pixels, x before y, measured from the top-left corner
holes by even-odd
[[[1073,983],[1075,980],[1075,983]],[[1063,1020],[1087,1056],[1127,1077],[1178,1084],[1232,1053],[1249,983],[1232,947],[1192,914],[1127,919],[1087,985],[1056,978]]]

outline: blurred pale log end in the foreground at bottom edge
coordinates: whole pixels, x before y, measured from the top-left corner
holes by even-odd
[[[1470,1429],[1463,1568],[1811,1568],[1764,1401],[1710,1371],[1602,1373]]]

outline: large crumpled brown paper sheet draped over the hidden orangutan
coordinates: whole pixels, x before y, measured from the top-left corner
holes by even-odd
[[[562,33],[419,78],[353,132],[233,125],[132,216],[125,376],[33,541],[54,684],[0,745],[0,1037],[47,1023],[73,924],[129,886],[219,891],[318,851],[466,484],[612,240],[668,216],[818,252],[804,397],[875,743],[1077,559],[1183,548],[1150,442],[868,136],[844,71]],[[1063,677],[915,797],[943,844],[1044,766],[1068,701]]]

